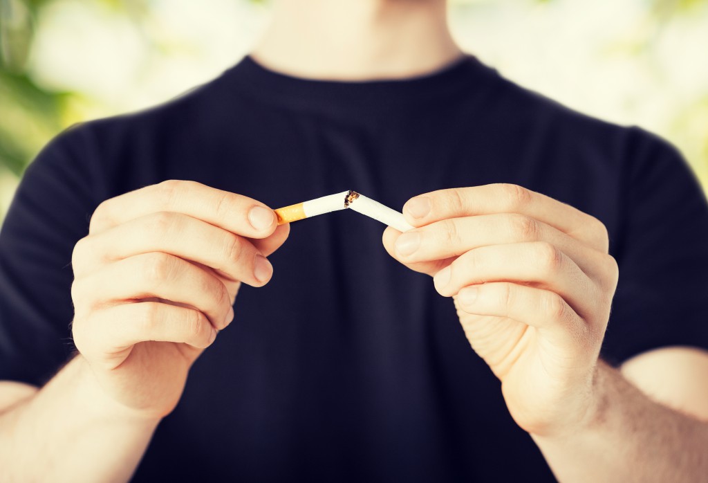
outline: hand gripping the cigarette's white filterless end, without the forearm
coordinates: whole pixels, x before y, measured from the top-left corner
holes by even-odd
[[[541,436],[586,424],[618,276],[604,225],[504,184],[420,195],[404,215],[416,229],[387,229],[384,246],[454,298],[517,424]]]

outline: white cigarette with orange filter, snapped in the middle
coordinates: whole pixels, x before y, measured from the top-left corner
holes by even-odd
[[[347,208],[378,220],[384,225],[397,229],[399,232],[406,232],[413,228],[406,222],[402,213],[392,210],[386,205],[382,205],[378,201],[367,198],[356,191],[343,191],[342,193],[297,203],[297,205],[278,208],[278,210],[275,210],[275,214],[278,215],[278,225],[284,225],[285,223],[304,220],[316,215],[324,215],[324,213],[336,210],[346,210]]]

